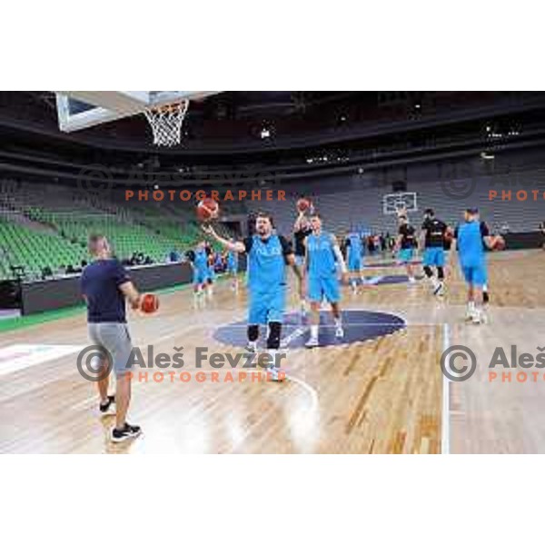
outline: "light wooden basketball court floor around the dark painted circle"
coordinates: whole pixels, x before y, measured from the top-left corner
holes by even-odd
[[[289,350],[283,383],[242,381],[241,370],[226,368],[213,381],[212,368],[192,361],[199,346],[240,352],[213,334],[245,320],[243,289],[219,282],[199,309],[190,289],[163,293],[157,314],[130,313],[133,342],[144,357],[147,345],[155,354],[183,346],[182,371],[192,380],[154,381],[158,370],[143,370],[148,380],[134,381],[129,421],[144,436],[121,445],[108,440],[114,417],[99,417],[95,386],[76,369],[77,353],[89,344],[84,312],[4,332],[0,353],[34,352],[17,365],[2,362],[0,452],[543,452],[545,380],[490,382],[488,362],[496,346],[535,354],[545,345],[545,253],[497,253],[489,263],[489,324],[463,322],[458,271],[442,300],[424,282],[364,286],[355,295],[345,287],[344,310],[391,312],[406,328],[367,342]],[[292,290],[292,310],[296,303]],[[469,381],[449,382],[441,373],[441,353],[452,344],[478,356]],[[43,361],[41,350],[49,354]],[[196,372],[205,379],[197,381]]]

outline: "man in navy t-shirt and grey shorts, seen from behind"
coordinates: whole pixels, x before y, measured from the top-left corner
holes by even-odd
[[[91,342],[107,353],[114,367],[117,386],[115,396],[108,395],[108,373],[97,382],[100,394],[99,408],[108,414],[115,403],[115,427],[111,432],[114,442],[140,435],[139,426],[126,422],[131,401],[131,373],[129,362],[133,344],[127,327],[125,299],[134,309],[140,306],[140,293],[117,259],[112,257],[110,244],[103,235],[89,237],[89,253],[94,262],[84,268],[81,289],[87,303],[87,323]],[[106,362],[102,362],[105,371]]]

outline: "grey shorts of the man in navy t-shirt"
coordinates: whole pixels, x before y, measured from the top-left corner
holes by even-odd
[[[112,357],[115,376],[130,371],[133,342],[126,323],[101,322],[88,324],[91,342],[103,348]]]

